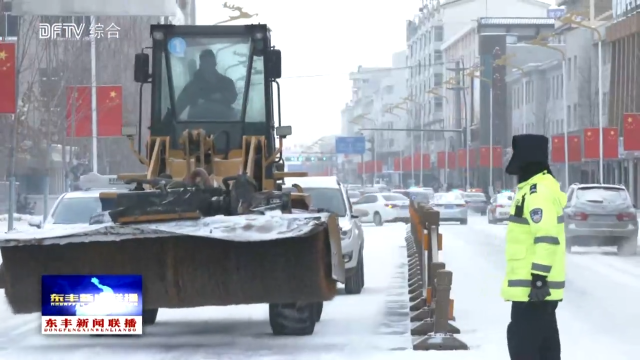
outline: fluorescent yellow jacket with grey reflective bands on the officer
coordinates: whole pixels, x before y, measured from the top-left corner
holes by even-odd
[[[528,301],[531,274],[547,277],[551,296],[562,300],[565,285],[563,209],[567,196],[546,171],[518,185],[507,227],[507,276],[502,297]]]

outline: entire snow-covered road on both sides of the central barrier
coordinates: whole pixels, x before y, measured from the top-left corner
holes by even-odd
[[[39,334],[37,315],[14,316],[0,300],[0,359],[424,359],[408,335],[404,225],[365,225],[366,286],[325,303],[310,337],[271,335],[264,305],[160,310],[141,338]],[[442,258],[454,273],[456,325],[471,351],[430,352],[430,360],[508,360],[509,304],[500,298],[506,225],[471,216],[441,227]],[[640,257],[574,249],[558,316],[563,359],[637,359]],[[0,294],[2,296],[3,294]],[[398,350],[398,351],[393,351]]]

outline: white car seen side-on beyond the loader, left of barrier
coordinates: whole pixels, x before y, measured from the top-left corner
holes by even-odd
[[[409,198],[394,193],[364,194],[353,203],[354,209],[367,211],[360,221],[382,226],[385,222],[409,223]]]

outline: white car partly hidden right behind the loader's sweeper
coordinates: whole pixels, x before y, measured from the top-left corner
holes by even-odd
[[[335,176],[310,176],[286,178],[286,184],[297,184],[311,197],[311,207],[338,216],[340,236],[342,238],[342,258],[346,272],[345,292],[359,294],[364,287],[364,232],[360,224],[358,211],[351,206],[347,190]],[[284,187],[286,192],[293,188]],[[360,212],[365,214],[365,212]]]

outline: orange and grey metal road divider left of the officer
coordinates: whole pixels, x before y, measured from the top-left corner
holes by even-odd
[[[414,350],[469,350],[455,337],[460,329],[451,324],[453,273],[439,261],[442,234],[440,213],[424,204],[411,202],[411,225],[405,236],[408,258],[410,321]]]

